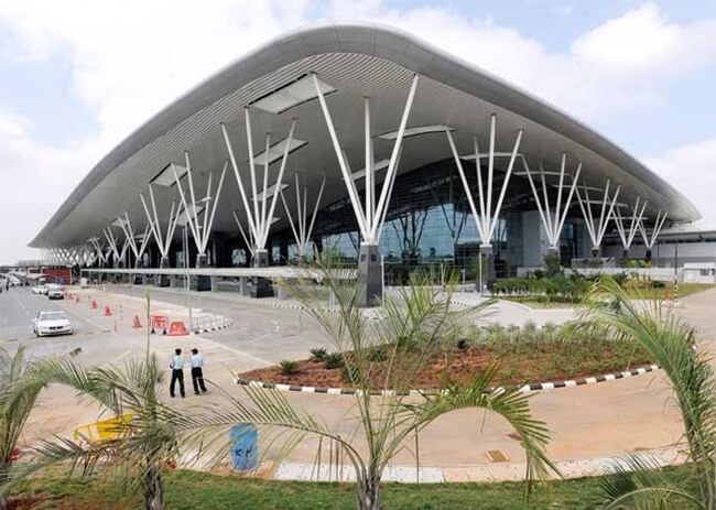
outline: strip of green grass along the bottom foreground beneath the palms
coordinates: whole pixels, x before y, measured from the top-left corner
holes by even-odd
[[[691,470],[668,468],[666,477],[681,486]],[[177,470],[164,475],[166,507],[172,510],[321,510],[356,508],[351,484],[264,481]],[[43,498],[22,508],[67,510],[141,509],[138,495],[127,495],[121,481],[42,478],[22,497]],[[541,484],[528,502],[524,485],[500,484],[384,484],[387,510],[575,510],[600,501],[599,478]]]

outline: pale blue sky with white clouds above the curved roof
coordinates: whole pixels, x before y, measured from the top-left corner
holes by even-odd
[[[716,219],[716,1],[0,0],[0,263],[113,147],[316,22],[398,26],[568,112]]]

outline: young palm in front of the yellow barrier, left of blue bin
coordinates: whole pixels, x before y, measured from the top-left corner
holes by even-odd
[[[104,441],[41,442],[35,447],[35,462],[9,471],[9,481],[17,482],[58,463],[67,466],[68,475],[83,476],[101,465],[104,471],[117,468],[118,474],[127,476],[129,488],[141,488],[147,510],[163,510],[162,471],[178,459],[182,434],[173,427],[176,413],[160,400],[163,377],[156,356],[90,369],[69,359],[46,360],[39,372],[37,379],[69,386],[118,419],[106,430],[110,438]]]

